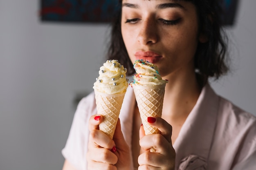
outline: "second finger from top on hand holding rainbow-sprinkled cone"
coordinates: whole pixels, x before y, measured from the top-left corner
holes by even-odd
[[[173,149],[172,145],[161,134],[150,134],[139,140],[139,145],[143,150],[155,149],[155,152],[168,155]]]

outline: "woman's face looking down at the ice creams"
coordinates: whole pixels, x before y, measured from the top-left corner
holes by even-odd
[[[152,62],[162,76],[194,69],[199,34],[191,2],[123,0],[121,32],[132,63]]]

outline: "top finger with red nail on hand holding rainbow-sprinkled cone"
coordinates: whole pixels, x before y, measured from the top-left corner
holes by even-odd
[[[160,131],[160,134],[163,135],[169,143],[172,143],[171,135],[172,135],[173,128],[170,124],[168,124],[167,121],[165,121],[161,117],[148,117],[148,123],[151,126],[158,128],[158,130]]]

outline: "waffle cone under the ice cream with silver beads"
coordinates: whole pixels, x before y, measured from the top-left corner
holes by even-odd
[[[113,139],[125,93],[106,94],[98,91],[94,92],[97,112],[103,116],[103,122],[99,124],[99,130]]]

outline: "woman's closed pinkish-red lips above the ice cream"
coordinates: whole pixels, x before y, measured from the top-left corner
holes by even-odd
[[[136,60],[145,60],[154,64],[162,58],[162,55],[159,55],[153,51],[137,51],[135,53],[135,57]]]

